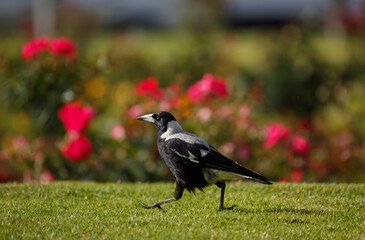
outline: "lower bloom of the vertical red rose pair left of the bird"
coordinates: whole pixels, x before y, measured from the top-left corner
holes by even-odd
[[[92,146],[85,136],[77,134],[62,149],[62,154],[72,162],[79,162],[88,157],[92,151]]]

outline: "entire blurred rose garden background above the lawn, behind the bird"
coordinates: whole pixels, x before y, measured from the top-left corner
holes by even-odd
[[[173,180],[142,114],[273,181],[365,181],[364,0],[1,0],[0,182]]]

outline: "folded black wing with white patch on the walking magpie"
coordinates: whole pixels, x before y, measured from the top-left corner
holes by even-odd
[[[196,142],[187,142],[180,138],[171,138],[166,141],[166,147],[180,157],[185,158],[193,164],[198,164],[202,168],[212,168],[230,172],[264,184],[271,184],[264,176],[227,158],[209,144],[202,144],[201,138],[198,140],[199,141]]]

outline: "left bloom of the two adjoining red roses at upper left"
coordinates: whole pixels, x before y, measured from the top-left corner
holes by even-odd
[[[48,50],[49,40],[47,37],[34,38],[23,45],[22,57],[24,60],[29,60]]]

